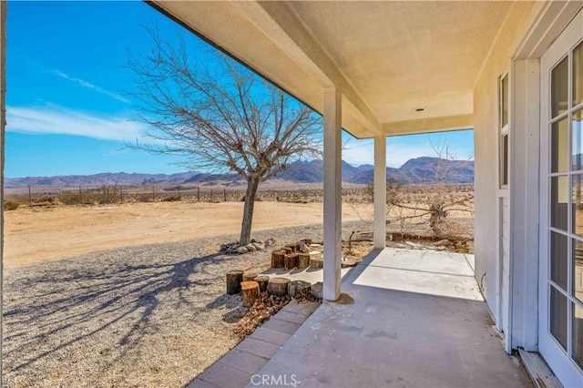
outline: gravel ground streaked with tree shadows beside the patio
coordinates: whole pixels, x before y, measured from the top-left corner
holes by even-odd
[[[343,238],[370,224],[343,224]],[[322,240],[322,225],[254,233],[276,246]],[[116,250],[5,270],[3,384],[179,387],[239,341],[230,270],[264,271],[269,250],[218,252],[221,236]]]

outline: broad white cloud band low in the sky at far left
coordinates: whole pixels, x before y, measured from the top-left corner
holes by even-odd
[[[6,107],[6,130],[11,132],[134,140],[145,129],[145,124],[127,117],[88,115],[64,107]]]

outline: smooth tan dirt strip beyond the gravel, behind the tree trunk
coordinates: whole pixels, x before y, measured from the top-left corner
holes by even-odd
[[[238,235],[242,212],[243,202],[157,202],[6,211],[4,265],[13,268],[93,250]],[[343,206],[343,220],[359,220],[352,206]],[[253,230],[319,222],[322,203],[255,204]]]

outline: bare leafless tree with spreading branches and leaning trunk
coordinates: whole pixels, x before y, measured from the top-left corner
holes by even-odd
[[[296,159],[321,155],[322,117],[218,50],[201,63],[184,36],[172,43],[156,28],[148,33],[151,51],[128,61],[136,76],[128,94],[148,124],[148,144],[128,147],[240,174],[247,180],[240,244],[248,244],[259,184]]]

